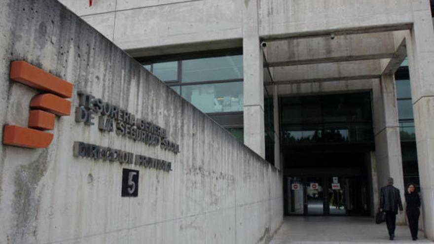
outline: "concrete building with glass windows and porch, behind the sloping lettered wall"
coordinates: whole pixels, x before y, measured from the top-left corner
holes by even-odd
[[[60,1],[282,169],[285,214],[373,215],[392,176],[434,239],[433,1]]]

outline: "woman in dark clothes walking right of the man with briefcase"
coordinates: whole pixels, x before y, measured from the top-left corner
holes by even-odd
[[[405,191],[405,202],[407,203],[406,212],[411,237],[413,241],[416,241],[421,201],[419,193],[416,192],[416,187],[412,183],[408,184],[407,190]]]

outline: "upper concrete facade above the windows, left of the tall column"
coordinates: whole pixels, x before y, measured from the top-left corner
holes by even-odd
[[[241,1],[60,0],[122,49],[241,39]]]

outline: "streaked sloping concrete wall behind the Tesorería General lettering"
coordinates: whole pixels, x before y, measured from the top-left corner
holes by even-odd
[[[56,0],[0,1],[0,33],[1,126],[27,126],[39,91],[9,79],[10,62],[25,60],[72,82],[73,108],[87,91],[181,145],[176,155],[103,134],[73,113],[56,118],[46,149],[1,145],[0,243],[251,244],[278,229],[281,173]],[[173,171],[74,158],[74,141],[171,161]],[[121,197],[122,168],[140,170],[137,198]]]

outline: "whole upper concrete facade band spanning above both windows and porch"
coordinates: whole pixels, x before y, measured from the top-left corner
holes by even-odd
[[[59,1],[122,49],[150,52],[186,43],[207,49],[207,42],[242,39],[246,25],[252,24],[243,21],[249,5],[257,6],[258,35],[274,38],[342,29],[361,33],[369,28],[408,29],[412,5],[418,4],[409,0],[94,0],[89,7],[87,0]]]

